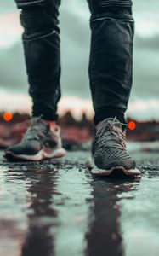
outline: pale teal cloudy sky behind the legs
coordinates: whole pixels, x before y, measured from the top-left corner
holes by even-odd
[[[159,119],[159,1],[134,0],[136,20],[133,56],[133,90],[129,111]],[[62,1],[61,85],[64,96],[90,98],[88,86],[88,55],[90,31],[86,1]],[[14,0],[5,0],[0,9],[0,86],[9,93],[27,94],[27,79],[20,42],[22,28]],[[1,105],[0,105],[1,108]],[[136,109],[136,110],[135,110]]]

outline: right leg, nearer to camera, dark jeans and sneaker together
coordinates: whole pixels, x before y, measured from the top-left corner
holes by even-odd
[[[131,0],[88,0],[91,11],[90,88],[96,131],[92,143],[94,175],[139,175],[125,143],[124,113],[132,87]]]

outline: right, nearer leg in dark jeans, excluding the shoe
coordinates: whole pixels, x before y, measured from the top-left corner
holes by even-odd
[[[132,1],[88,0],[91,11],[90,87],[97,125],[115,117],[124,122],[132,87]]]

